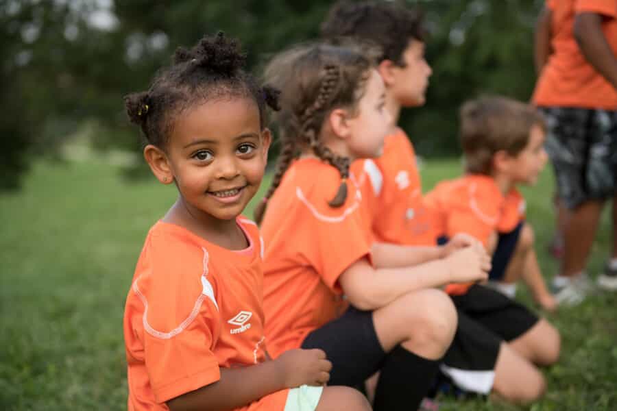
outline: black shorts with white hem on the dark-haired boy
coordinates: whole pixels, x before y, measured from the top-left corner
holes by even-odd
[[[520,303],[485,286],[474,285],[466,294],[450,297],[459,325],[441,372],[463,390],[488,394],[501,343],[522,336],[539,319]]]

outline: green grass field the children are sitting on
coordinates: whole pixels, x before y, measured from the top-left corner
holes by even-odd
[[[430,188],[458,162],[423,169]],[[103,162],[40,162],[21,192],[0,197],[0,409],[119,410],[127,395],[122,337],[126,292],[147,229],[176,197],[154,179],[128,182]],[[544,273],[557,265],[551,174],[525,190]],[[247,212],[251,215],[251,212]],[[604,216],[590,272],[609,250]],[[524,290],[520,299],[531,303]],[[598,295],[550,319],[561,330],[560,362],[531,410],[617,409],[617,295]],[[446,400],[446,410],[513,410],[499,401]]]

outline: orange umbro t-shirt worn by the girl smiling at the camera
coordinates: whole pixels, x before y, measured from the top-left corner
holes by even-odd
[[[169,410],[166,401],[220,377],[221,367],[265,360],[261,238],[232,251],[159,221],[139,256],[124,313],[128,410]],[[238,410],[283,410],[282,390]]]

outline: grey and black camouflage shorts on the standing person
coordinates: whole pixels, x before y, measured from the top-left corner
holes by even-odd
[[[617,188],[617,111],[540,108],[546,119],[546,153],[557,192],[572,209],[613,197]]]

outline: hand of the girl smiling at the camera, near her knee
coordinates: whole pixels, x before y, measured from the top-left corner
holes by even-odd
[[[322,386],[330,379],[332,363],[326,360],[321,349],[292,349],[276,359],[285,376],[285,386],[295,388],[301,385]]]

